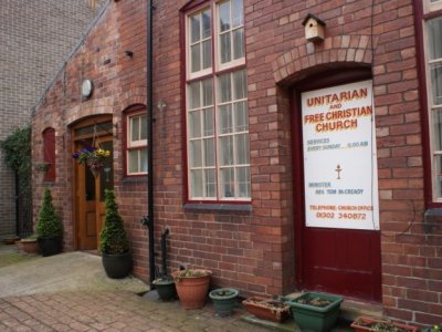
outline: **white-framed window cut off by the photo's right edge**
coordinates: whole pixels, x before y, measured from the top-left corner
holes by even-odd
[[[427,0],[427,13],[442,9],[441,0]],[[442,13],[423,21],[427,103],[430,133],[432,200],[442,203]]]

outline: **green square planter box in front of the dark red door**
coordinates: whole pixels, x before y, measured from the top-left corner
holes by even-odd
[[[314,303],[322,305],[314,305]],[[330,294],[307,292],[286,303],[291,307],[293,318],[302,330],[315,332],[329,331],[339,315],[343,298]]]

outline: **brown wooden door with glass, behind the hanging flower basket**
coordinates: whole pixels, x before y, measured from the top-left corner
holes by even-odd
[[[113,155],[112,122],[108,116],[94,117],[75,125],[72,136],[73,152],[94,146],[108,149]],[[94,250],[98,248],[99,231],[104,220],[104,190],[114,187],[113,158],[105,160],[104,168],[96,177],[87,166],[73,163],[76,248]]]

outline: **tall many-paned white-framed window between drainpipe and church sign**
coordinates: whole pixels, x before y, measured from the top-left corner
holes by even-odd
[[[242,0],[209,1],[186,15],[190,200],[251,198],[243,17]]]

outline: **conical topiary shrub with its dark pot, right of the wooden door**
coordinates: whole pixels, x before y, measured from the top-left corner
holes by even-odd
[[[107,277],[119,279],[131,270],[129,240],[124,228],[123,218],[118,212],[114,190],[105,190],[106,216],[99,232],[99,250]]]

